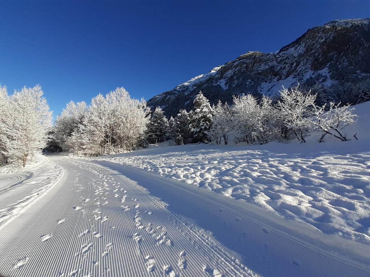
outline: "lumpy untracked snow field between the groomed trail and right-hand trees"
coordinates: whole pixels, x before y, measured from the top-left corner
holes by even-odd
[[[304,221],[324,233],[370,243],[370,102],[347,128],[359,140],[263,146],[162,143],[92,158],[155,172]]]

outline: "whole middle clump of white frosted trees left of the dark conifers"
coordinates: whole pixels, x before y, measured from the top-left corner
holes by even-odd
[[[146,102],[117,88],[105,97],[99,94],[90,106],[68,103],[55,120],[52,137],[63,151],[81,156],[121,153],[148,145],[149,120]]]

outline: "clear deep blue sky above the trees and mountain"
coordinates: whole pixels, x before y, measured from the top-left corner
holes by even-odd
[[[148,100],[316,25],[370,17],[356,0],[123,2],[0,0],[0,83],[39,83],[54,116],[117,86]]]

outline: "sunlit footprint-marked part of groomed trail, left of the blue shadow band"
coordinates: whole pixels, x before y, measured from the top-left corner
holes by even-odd
[[[1,233],[5,276],[256,276],[236,253],[96,164],[51,157],[54,189]]]

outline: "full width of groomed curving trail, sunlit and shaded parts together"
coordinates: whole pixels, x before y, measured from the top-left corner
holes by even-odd
[[[1,230],[4,276],[369,276],[364,244],[143,170],[49,159],[64,175]]]

